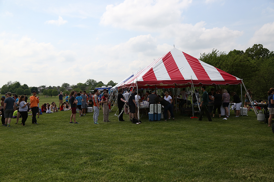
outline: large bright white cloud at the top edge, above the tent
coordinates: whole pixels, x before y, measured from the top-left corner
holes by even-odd
[[[191,2],[191,0],[125,0],[117,6],[107,5],[100,23],[128,30],[153,31],[181,22],[182,10],[188,8]]]

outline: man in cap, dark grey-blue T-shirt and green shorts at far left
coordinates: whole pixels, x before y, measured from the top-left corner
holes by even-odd
[[[6,93],[7,98],[4,101],[4,115],[5,115],[5,126],[10,125],[13,112],[16,110],[15,100],[11,97],[11,93]]]

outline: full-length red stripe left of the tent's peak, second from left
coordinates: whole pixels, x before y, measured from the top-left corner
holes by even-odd
[[[181,74],[172,54],[169,52],[166,54],[165,57],[163,57],[163,64],[165,65],[167,69],[167,73],[171,80],[178,80],[178,79],[184,79],[183,75]]]

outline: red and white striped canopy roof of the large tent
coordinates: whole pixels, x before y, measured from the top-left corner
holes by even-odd
[[[141,88],[180,88],[241,84],[241,79],[173,48],[124,82],[122,88],[136,84]]]

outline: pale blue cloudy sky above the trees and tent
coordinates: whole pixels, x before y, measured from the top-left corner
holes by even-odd
[[[0,0],[0,87],[119,83],[174,46],[274,50],[272,0]]]

